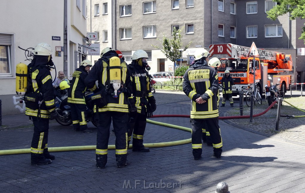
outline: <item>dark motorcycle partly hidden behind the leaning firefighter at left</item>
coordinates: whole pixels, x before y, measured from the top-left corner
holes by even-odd
[[[59,86],[54,88],[54,103],[55,103],[55,111],[57,112],[57,117],[55,120],[63,126],[68,126],[72,124],[71,118],[71,108],[68,104],[68,89],[60,88]],[[96,127],[95,121],[95,113],[93,112],[94,105],[91,102],[91,95],[93,92],[86,93],[85,99],[86,104],[88,106],[87,113],[87,122],[91,121],[92,124]]]

